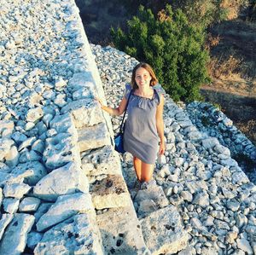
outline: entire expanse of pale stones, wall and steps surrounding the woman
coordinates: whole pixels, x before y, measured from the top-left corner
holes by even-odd
[[[233,159],[255,148],[223,113],[203,130],[206,107],[158,85],[166,154],[136,190],[121,117],[93,98],[116,107],[137,60],[89,44],[73,1],[3,0],[0,33],[0,254],[255,253],[256,188]]]

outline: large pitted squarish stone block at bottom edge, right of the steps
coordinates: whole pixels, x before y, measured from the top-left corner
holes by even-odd
[[[152,254],[176,253],[187,246],[188,234],[183,230],[176,207],[167,206],[140,221],[143,237]]]

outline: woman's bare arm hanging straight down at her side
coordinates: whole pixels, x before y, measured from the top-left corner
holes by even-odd
[[[163,119],[163,112],[164,112],[164,104],[165,104],[165,98],[161,94],[160,95],[160,103],[158,107],[156,108],[156,129],[158,132],[158,135],[160,136],[160,150],[159,154],[164,154],[166,151],[166,142],[165,142],[165,135],[164,135],[164,119]]]

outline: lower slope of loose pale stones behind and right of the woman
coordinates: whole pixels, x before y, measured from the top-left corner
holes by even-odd
[[[91,47],[96,55],[107,101],[116,107],[137,60],[111,47],[93,44]],[[148,187],[138,192],[133,188],[136,177],[131,154],[123,155],[123,174],[137,217],[141,218],[146,245],[154,254],[177,252],[167,247],[172,238],[166,229],[172,229],[172,220],[180,222],[176,219],[179,212],[189,237],[177,234],[178,239],[186,242],[188,238],[189,241],[188,246],[177,254],[255,254],[256,187],[232,159],[230,150],[234,148],[222,144],[223,139],[214,132],[214,125],[212,132],[207,133],[193,124],[197,118],[193,119],[195,114],[190,112],[199,111],[197,106],[200,104],[192,103],[187,107],[181,104],[178,107],[168,95],[165,97],[166,154],[158,159],[154,181]],[[226,126],[224,130],[227,131],[233,130],[234,136],[238,134],[230,120],[223,113],[218,113],[223,120],[219,126]],[[112,118],[116,132],[119,120],[120,117]],[[229,125],[230,128],[227,127]],[[224,130],[222,137],[225,137]],[[230,134],[226,136],[230,137]],[[242,141],[242,148],[247,148],[253,157],[255,148],[244,136]],[[236,142],[239,147],[240,143]],[[226,146],[229,144],[225,143]],[[172,206],[177,208],[173,214]],[[177,229],[178,225],[172,230],[178,233]],[[161,236],[162,242],[168,240],[166,246],[158,247],[154,233]]]

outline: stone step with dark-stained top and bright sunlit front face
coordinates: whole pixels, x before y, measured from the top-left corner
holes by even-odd
[[[90,189],[92,202],[96,209],[128,206],[130,194],[121,176],[108,175]]]

